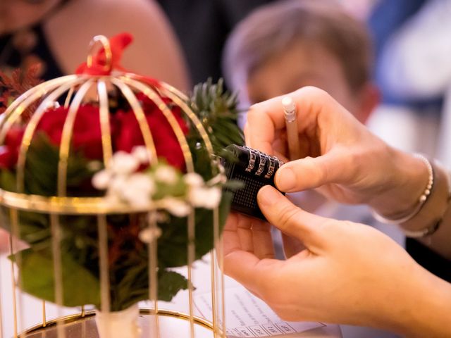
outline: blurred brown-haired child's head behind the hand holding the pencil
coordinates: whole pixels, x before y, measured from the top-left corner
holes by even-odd
[[[243,107],[313,85],[365,123],[379,101],[366,27],[336,1],[288,0],[258,8],[230,34],[223,70]]]

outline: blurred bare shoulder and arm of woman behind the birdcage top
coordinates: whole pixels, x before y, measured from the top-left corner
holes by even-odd
[[[70,1],[44,28],[66,73],[72,73],[85,60],[87,44],[94,35],[111,37],[130,32],[135,41],[124,56],[123,66],[187,89],[187,70],[180,46],[154,1]]]

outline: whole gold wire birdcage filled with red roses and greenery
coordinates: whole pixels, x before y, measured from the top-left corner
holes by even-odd
[[[101,49],[94,54],[97,42]],[[10,232],[8,264],[12,277],[11,300],[2,300],[0,331],[8,332],[10,327],[13,337],[97,337],[92,303],[97,313],[109,313],[141,301],[141,329],[123,337],[166,337],[163,318],[169,319],[166,326],[174,326],[171,320],[187,325],[185,336],[178,337],[194,337],[196,330],[201,330],[197,327],[208,328],[211,337],[225,337],[219,244],[220,206],[226,209],[226,197],[223,195],[219,205],[210,207],[190,204],[192,201],[186,198],[191,191],[187,177],[197,181],[202,177],[204,181],[197,184],[204,191],[217,192],[224,182],[209,132],[185,94],[164,82],[114,69],[114,57],[109,39],[94,37],[85,65],[87,72],[37,85],[18,97],[3,115],[0,144],[14,153],[9,155],[15,164],[0,170],[2,224]],[[80,113],[83,109],[85,115]],[[159,144],[164,147],[167,142],[158,139],[162,127],[153,125],[149,109],[161,114],[159,121],[163,120],[165,128],[172,132],[177,149],[169,149],[169,153],[179,151],[183,156],[175,178],[171,176],[171,159],[159,154]],[[188,131],[175,114],[178,111],[187,121]],[[102,191],[92,187],[92,177],[101,171],[113,173],[115,161],[119,169],[114,175],[119,175],[121,165],[126,164],[119,162],[127,158],[115,160],[117,137],[123,130],[117,121],[119,115],[133,121],[135,129],[130,127],[129,134],[125,134],[131,139],[140,134],[138,143],[149,162],[144,169],[141,167],[145,161],[135,163],[134,173],[157,175],[154,168],[163,168],[161,173],[171,174],[172,178],[160,177],[162,182],[152,181],[157,187],[149,201],[141,199],[142,203],[130,204],[121,199],[122,195],[112,198],[114,189],[118,194],[125,192],[128,182],[132,182],[130,177],[121,181],[120,188],[110,186]],[[89,133],[83,133],[97,123],[95,134],[100,142],[96,145]],[[100,158],[89,154],[97,146]],[[108,185],[107,181],[103,184]],[[178,214],[182,209],[183,213]],[[173,213],[168,212],[171,210]],[[147,239],[141,241],[144,232]],[[205,242],[204,237],[209,239]],[[208,273],[198,274],[211,291],[211,317],[204,318],[194,311],[197,284],[193,265],[207,251],[211,262],[204,269]],[[116,265],[119,268],[113,268]],[[173,273],[180,265],[186,265],[181,273],[186,280]],[[133,269],[136,271],[132,273]],[[177,297],[185,297],[180,302],[184,307],[176,308],[175,303],[163,310],[159,299],[168,301],[174,289],[183,288],[187,291]],[[42,316],[31,328],[24,319],[32,306],[27,293],[42,299]],[[36,301],[34,304],[33,312],[37,313]],[[56,308],[56,318],[49,318],[49,307]],[[7,317],[12,323],[5,320]],[[108,327],[113,330],[110,324],[106,322],[106,332]],[[104,335],[114,337],[114,333]]]

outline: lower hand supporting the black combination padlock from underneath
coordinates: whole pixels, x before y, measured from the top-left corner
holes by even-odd
[[[434,299],[431,288],[441,280],[420,268],[385,234],[309,214],[272,187],[262,188],[258,198],[268,221],[307,249],[286,261],[275,260],[268,225],[231,215],[223,233],[224,270],[281,318],[401,333],[427,318],[421,304]]]

